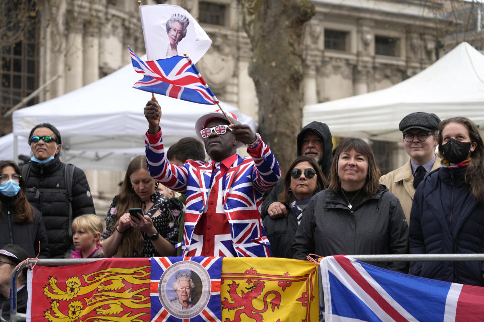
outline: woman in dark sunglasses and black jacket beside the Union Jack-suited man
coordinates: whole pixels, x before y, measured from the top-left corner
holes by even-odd
[[[326,186],[326,178],[314,159],[299,156],[294,160],[284,176],[284,190],[276,204],[287,210],[287,216],[277,216],[269,211],[263,221],[274,257],[292,258],[291,244],[302,211],[311,197]]]

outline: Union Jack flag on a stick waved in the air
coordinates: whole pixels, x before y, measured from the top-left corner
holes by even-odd
[[[173,56],[144,62],[128,49],[133,68],[144,74],[133,86],[135,89],[194,103],[219,103],[190,58]]]

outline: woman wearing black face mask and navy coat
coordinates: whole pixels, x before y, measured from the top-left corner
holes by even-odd
[[[484,253],[484,144],[465,117],[439,124],[438,170],[418,186],[410,213],[411,254]],[[413,275],[484,286],[482,262],[413,262]]]

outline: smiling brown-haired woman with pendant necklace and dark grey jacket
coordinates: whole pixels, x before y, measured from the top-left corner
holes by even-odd
[[[329,187],[313,196],[302,215],[293,258],[407,254],[405,215],[398,198],[379,184],[379,178],[370,145],[358,138],[344,139],[333,158]],[[405,262],[370,264],[408,272]]]

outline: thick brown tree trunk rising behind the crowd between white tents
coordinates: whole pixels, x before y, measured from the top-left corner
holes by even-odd
[[[304,28],[315,7],[309,0],[238,2],[253,50],[249,75],[259,100],[259,133],[284,174],[296,157],[304,106]]]

